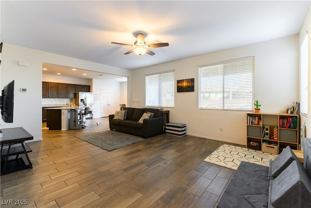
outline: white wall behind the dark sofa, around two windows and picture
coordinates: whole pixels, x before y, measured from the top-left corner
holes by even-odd
[[[198,66],[249,56],[255,56],[255,99],[261,104],[261,112],[279,113],[298,101],[298,35],[295,35],[133,70],[131,105],[145,106],[146,74],[174,69],[175,80],[195,79],[195,92],[176,93],[175,89],[175,107],[167,109],[170,122],[187,124],[189,135],[246,145],[245,112],[198,110]]]

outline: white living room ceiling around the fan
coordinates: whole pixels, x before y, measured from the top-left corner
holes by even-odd
[[[129,70],[298,34],[310,7],[310,0],[0,3],[2,42]],[[111,44],[133,44],[137,32],[170,45],[138,56]]]

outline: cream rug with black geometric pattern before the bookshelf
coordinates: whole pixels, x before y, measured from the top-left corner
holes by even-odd
[[[277,154],[224,144],[213,151],[204,161],[237,170],[242,161],[269,166],[269,161],[276,157]]]

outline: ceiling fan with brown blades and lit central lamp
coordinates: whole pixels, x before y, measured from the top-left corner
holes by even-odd
[[[137,34],[137,40],[134,42],[134,45],[126,44],[126,43],[119,43],[119,42],[111,42],[111,43],[112,44],[118,44],[118,45],[125,45],[125,46],[135,47],[134,49],[126,52],[124,55],[128,55],[130,53],[135,52],[139,56],[144,54],[144,53],[147,53],[150,56],[154,56],[155,53],[153,51],[151,51],[150,49],[148,49],[148,48],[157,48],[157,47],[169,46],[169,43],[152,43],[152,44],[147,44],[145,42],[145,36],[142,33],[138,33]]]

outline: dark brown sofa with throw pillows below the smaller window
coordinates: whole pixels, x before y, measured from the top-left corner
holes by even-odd
[[[148,138],[155,134],[163,133],[164,117],[161,111],[154,108],[124,108],[126,117],[124,119],[114,119],[115,115],[109,115],[110,130],[138,135]],[[143,119],[142,123],[138,123],[144,113],[152,113],[153,117]]]

